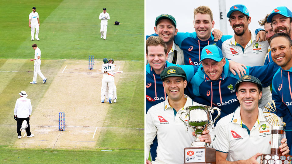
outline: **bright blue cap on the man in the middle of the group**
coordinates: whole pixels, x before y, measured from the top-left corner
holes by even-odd
[[[205,46],[202,50],[200,62],[204,59],[212,59],[217,62],[220,62],[223,59],[221,49],[213,44]]]

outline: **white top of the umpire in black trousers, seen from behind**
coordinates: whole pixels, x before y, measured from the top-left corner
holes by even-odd
[[[14,115],[18,118],[28,118],[31,115],[31,102],[26,97],[20,97],[16,100],[14,107]]]

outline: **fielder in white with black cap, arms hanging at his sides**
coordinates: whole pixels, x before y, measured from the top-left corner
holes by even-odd
[[[40,40],[40,19],[39,14],[36,12],[36,7],[33,7],[33,12],[30,13],[30,16],[28,17],[28,22],[30,23],[31,40],[33,40],[34,29],[36,29],[36,40]]]

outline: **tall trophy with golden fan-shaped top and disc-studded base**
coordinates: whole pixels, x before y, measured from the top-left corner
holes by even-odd
[[[261,155],[261,164],[266,163],[291,163],[291,155],[281,155],[279,146],[281,140],[284,137],[285,122],[282,122],[279,117],[275,114],[276,105],[274,101],[270,101],[266,104],[263,109],[264,117],[267,122],[272,126],[271,131],[271,154]]]

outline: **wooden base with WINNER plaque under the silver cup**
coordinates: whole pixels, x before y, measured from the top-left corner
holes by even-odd
[[[208,147],[185,148],[184,164],[216,164],[216,150]]]

